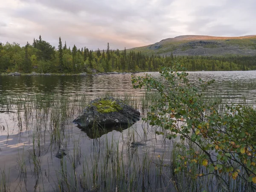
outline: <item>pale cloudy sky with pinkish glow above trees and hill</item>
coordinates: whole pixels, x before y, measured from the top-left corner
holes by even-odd
[[[126,49],[179,35],[256,35],[256,0],[0,0],[0,41]]]

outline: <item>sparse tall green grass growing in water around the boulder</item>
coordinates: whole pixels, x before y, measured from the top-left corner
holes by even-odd
[[[116,97],[138,108],[145,116],[159,95],[146,92],[140,96]],[[85,95],[0,95],[1,108],[15,111],[10,119],[18,128],[17,137],[28,134],[26,145],[18,149],[15,168],[19,175],[13,180],[10,168],[1,168],[1,191],[218,190],[211,175],[191,179],[191,172],[206,172],[201,166],[174,174],[178,152],[185,153],[177,145],[180,141],[170,142],[165,140],[165,135],[155,135],[154,129],[145,123],[133,125],[120,134],[106,131],[102,135],[99,129],[93,128],[91,134],[96,139],[88,138],[82,131],[77,134],[78,128],[73,126],[72,120],[91,99]],[[204,99],[205,102],[217,99],[220,109],[227,102],[217,95],[213,98],[205,96]],[[146,145],[131,145],[138,141]],[[59,150],[68,150],[69,153],[58,159],[55,154]],[[228,180],[226,175],[223,177]],[[229,182],[232,189],[243,190],[241,180]]]

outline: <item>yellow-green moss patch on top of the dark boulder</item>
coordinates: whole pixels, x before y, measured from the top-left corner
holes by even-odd
[[[99,113],[111,113],[122,110],[121,106],[115,101],[109,99],[101,99],[98,102],[93,103]]]

